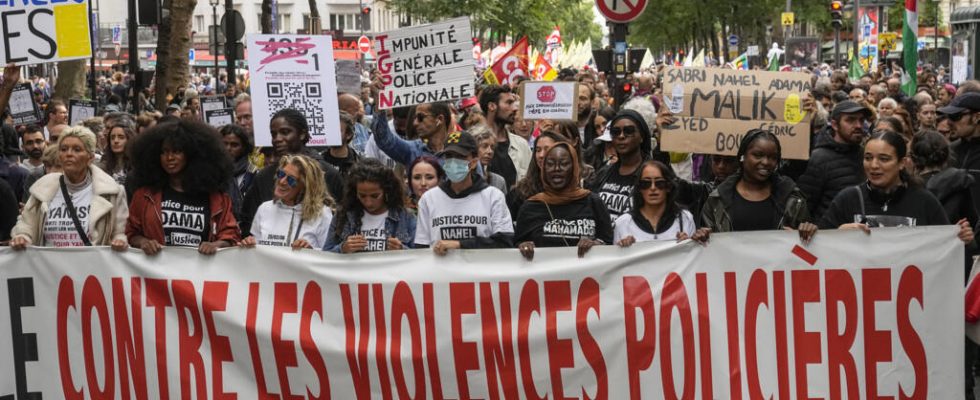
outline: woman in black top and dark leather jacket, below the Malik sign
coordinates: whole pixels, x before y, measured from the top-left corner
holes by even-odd
[[[769,131],[752,129],[738,146],[741,165],[711,192],[701,218],[712,232],[797,229],[808,242],[816,233],[803,193],[776,167],[782,160],[779,139]]]

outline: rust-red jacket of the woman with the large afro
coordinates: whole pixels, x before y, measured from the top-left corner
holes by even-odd
[[[133,237],[141,235],[147,239],[156,240],[163,244],[163,210],[160,208],[163,192],[142,187],[133,194],[129,204],[129,220],[126,222],[126,238],[133,242]],[[238,244],[241,234],[238,231],[238,221],[232,213],[231,197],[224,192],[211,193],[208,197],[211,205],[211,235],[209,242],[227,240],[232,245]]]

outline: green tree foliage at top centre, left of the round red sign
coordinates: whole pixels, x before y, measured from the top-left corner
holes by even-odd
[[[380,1],[380,0],[379,0]],[[593,21],[592,0],[383,0],[413,22],[435,22],[469,16],[474,36],[519,38],[542,46],[555,25],[563,41],[602,40],[602,27]]]

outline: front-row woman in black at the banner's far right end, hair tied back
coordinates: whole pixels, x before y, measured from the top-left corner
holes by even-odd
[[[948,225],[943,205],[903,167],[908,144],[892,131],[875,133],[865,144],[864,172],[867,181],[843,190],[820,219],[824,229],[860,229],[886,226]],[[973,242],[973,229],[965,218],[957,237]]]

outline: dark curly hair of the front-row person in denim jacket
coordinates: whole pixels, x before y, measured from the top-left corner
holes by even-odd
[[[376,159],[361,160],[350,170],[350,175],[344,184],[344,198],[338,211],[339,218],[333,219],[333,239],[338,242],[344,239],[340,235],[348,223],[352,224],[355,231],[361,229],[364,205],[357,198],[357,184],[362,182],[372,182],[381,186],[385,206],[388,207],[389,212],[405,208],[402,203],[405,190],[402,188],[402,182],[395,176],[395,172]],[[350,221],[347,220],[348,215],[352,217]]]

